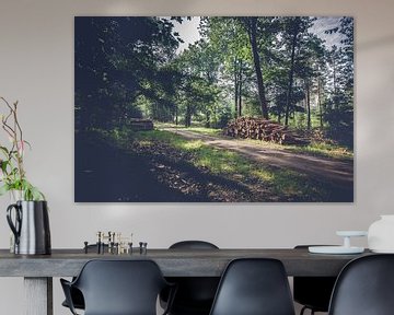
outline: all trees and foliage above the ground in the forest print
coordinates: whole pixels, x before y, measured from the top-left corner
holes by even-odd
[[[185,20],[76,18],[76,129],[131,117],[223,128],[266,115],[352,147],[351,18],[326,30],[341,35],[331,48],[312,32],[315,18],[202,16],[200,39],[179,52],[174,28]]]

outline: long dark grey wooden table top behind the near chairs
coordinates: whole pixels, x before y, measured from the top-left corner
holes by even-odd
[[[337,276],[351,259],[361,255],[310,254],[298,249],[149,249],[140,254],[85,254],[83,249],[53,249],[51,255],[14,255],[0,249],[0,277],[71,277],[91,259],[152,259],[166,277],[220,277],[230,260],[242,257],[276,258],[288,276]]]

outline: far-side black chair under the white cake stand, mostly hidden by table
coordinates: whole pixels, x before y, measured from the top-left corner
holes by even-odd
[[[294,248],[305,249],[311,245],[298,245]],[[303,307],[300,315],[306,310],[313,315],[315,312],[328,312],[329,299],[336,277],[294,277],[293,298]]]

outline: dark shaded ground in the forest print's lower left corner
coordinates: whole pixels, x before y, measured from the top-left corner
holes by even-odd
[[[242,183],[163,154],[126,152],[94,133],[76,133],[74,143],[76,202],[247,201],[253,195]]]

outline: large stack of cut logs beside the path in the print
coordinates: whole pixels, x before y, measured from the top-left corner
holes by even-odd
[[[223,133],[234,138],[258,139],[279,144],[306,144],[309,142],[294,130],[264,118],[236,118],[228,124]]]

